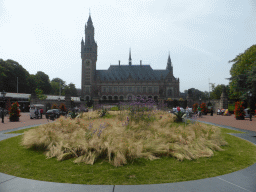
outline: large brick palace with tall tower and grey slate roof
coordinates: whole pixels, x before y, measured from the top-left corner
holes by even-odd
[[[165,70],[153,70],[150,65],[110,65],[108,70],[96,70],[97,43],[91,16],[85,25],[85,42],[81,42],[81,98],[85,100],[135,100],[137,96],[163,101],[179,99],[179,78],[173,76],[173,66],[167,59]]]

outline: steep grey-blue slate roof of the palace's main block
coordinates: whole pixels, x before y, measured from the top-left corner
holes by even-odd
[[[153,70],[150,65],[110,65],[108,70],[96,70],[96,76],[104,80],[126,80],[131,77],[137,81],[160,80],[169,73],[168,70]]]

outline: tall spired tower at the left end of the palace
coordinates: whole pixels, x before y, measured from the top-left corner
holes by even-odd
[[[82,58],[82,82],[81,96],[89,99],[92,93],[92,86],[95,84],[96,62],[97,62],[97,43],[94,40],[94,27],[91,15],[89,15],[87,25],[85,25],[85,42],[81,42],[81,58]]]

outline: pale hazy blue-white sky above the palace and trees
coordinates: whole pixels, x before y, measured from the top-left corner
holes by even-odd
[[[228,85],[229,63],[256,42],[256,0],[0,0],[0,59],[81,88],[81,40],[91,13],[96,69],[132,63],[166,69],[180,92]]]

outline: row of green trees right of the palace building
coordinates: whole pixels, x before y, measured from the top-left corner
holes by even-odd
[[[226,93],[229,100],[246,101],[244,106],[255,110],[256,103],[256,45],[252,45],[240,53],[229,63],[233,63],[230,75],[229,85],[212,84],[212,91],[210,92],[210,99],[220,99],[223,86],[225,86]],[[185,93],[190,93],[194,100],[201,97],[202,100],[209,99],[209,92],[201,92],[197,89],[191,88],[185,90]],[[249,95],[251,93],[251,96]]]

